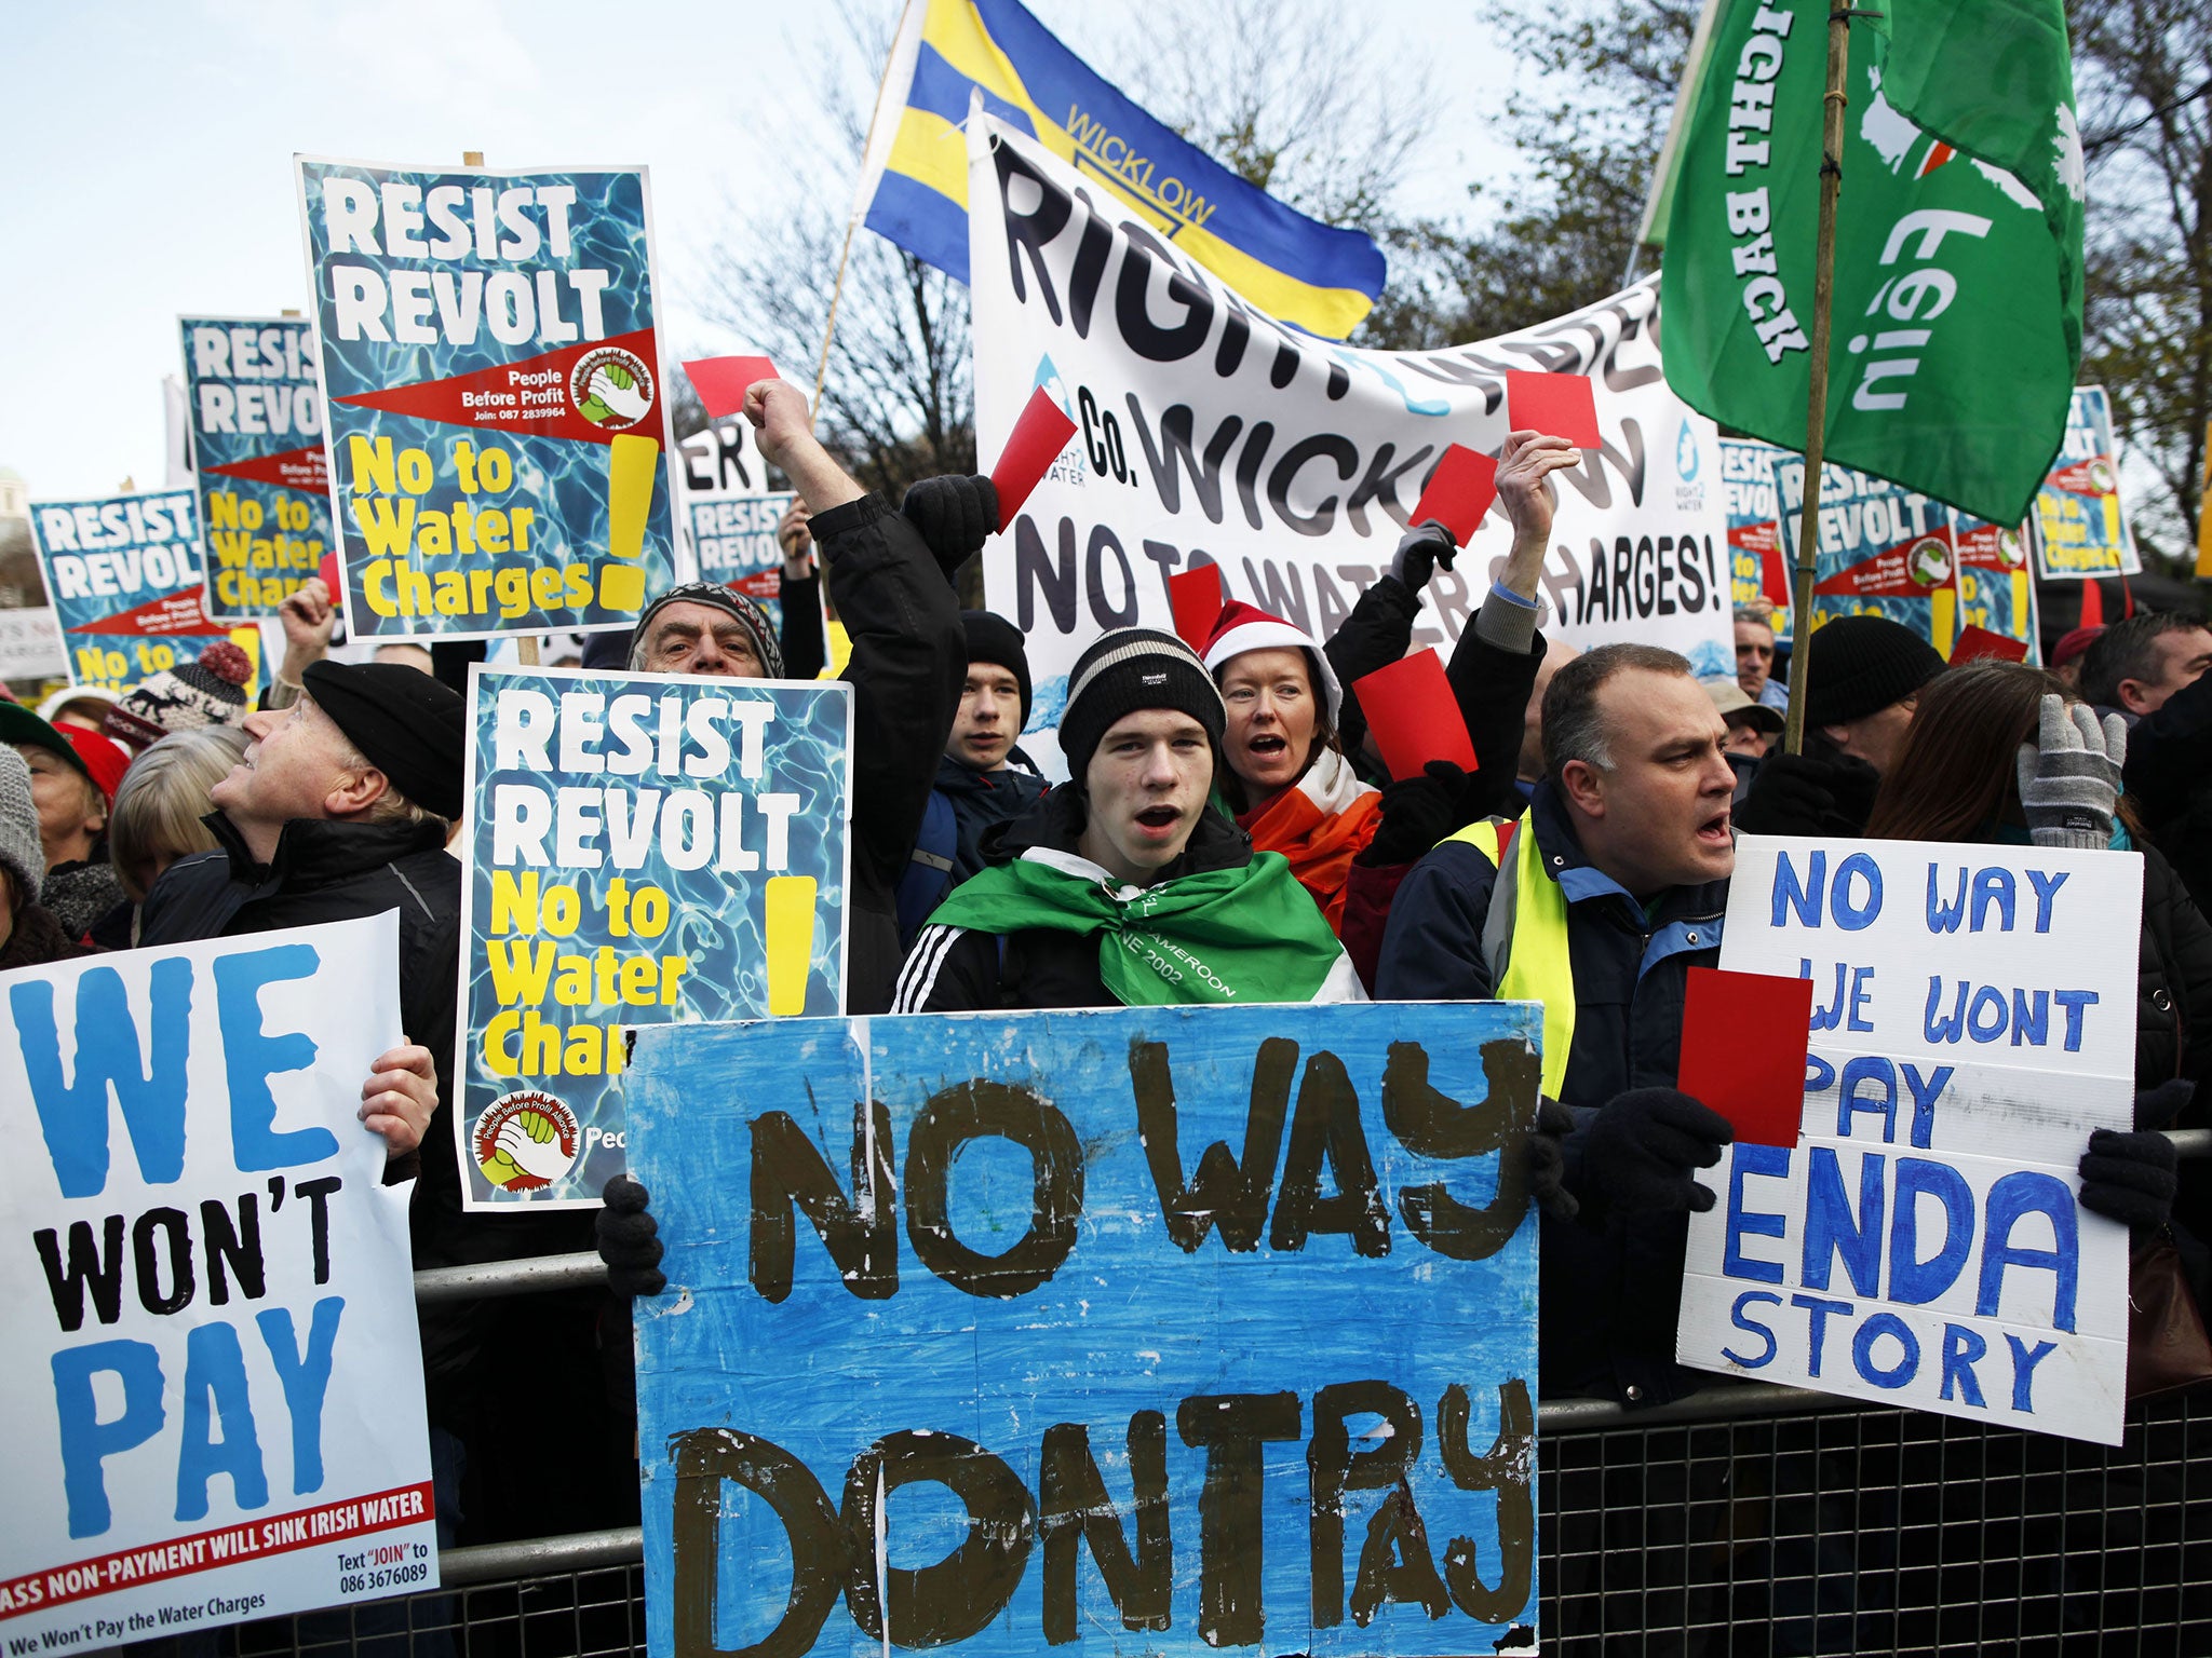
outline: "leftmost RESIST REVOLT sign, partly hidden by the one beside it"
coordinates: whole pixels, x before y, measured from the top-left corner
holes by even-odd
[[[128,690],[148,674],[197,661],[217,639],[246,652],[261,683],[261,630],[226,628],[206,608],[206,550],[188,489],[35,502],[31,535],[53,617],[62,623],[71,685]]]

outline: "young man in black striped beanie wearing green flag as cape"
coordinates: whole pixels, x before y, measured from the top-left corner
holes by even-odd
[[[1073,783],[929,917],[891,1010],[1365,1001],[1290,864],[1208,805],[1225,725],[1175,634],[1093,643],[1060,723]]]

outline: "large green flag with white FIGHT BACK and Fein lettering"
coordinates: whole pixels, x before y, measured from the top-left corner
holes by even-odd
[[[1666,378],[1805,447],[1827,7],[1723,0],[1661,267]],[[2026,515],[2081,356],[2081,148],[2062,0],[1887,0],[1851,33],[1827,455]]]

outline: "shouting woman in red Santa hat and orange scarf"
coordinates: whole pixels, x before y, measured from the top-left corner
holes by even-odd
[[[1259,851],[1290,860],[1329,928],[1343,928],[1354,853],[1383,822],[1383,794],[1336,745],[1345,690],[1312,634],[1232,601],[1206,643],[1230,723],[1221,794]]]

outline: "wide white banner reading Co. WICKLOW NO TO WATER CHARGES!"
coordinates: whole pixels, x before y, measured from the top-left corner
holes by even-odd
[[[1637,639],[1734,672],[1719,438],[1659,371],[1657,283],[1557,323],[1440,351],[1356,351],[1285,327],[1119,199],[1013,128],[969,133],[975,449],[1044,387],[1075,420],[984,595],[1029,637],[1024,749],[1053,765],[1066,676],[1104,628],[1170,626],[1168,577],[1219,564],[1223,597],[1327,639],[1389,568],[1444,451],[1506,438],[1506,374],[1579,374],[1601,444],[1551,475],[1548,632]],[[1427,590],[1416,646],[1469,626],[1513,535],[1493,504]]]

